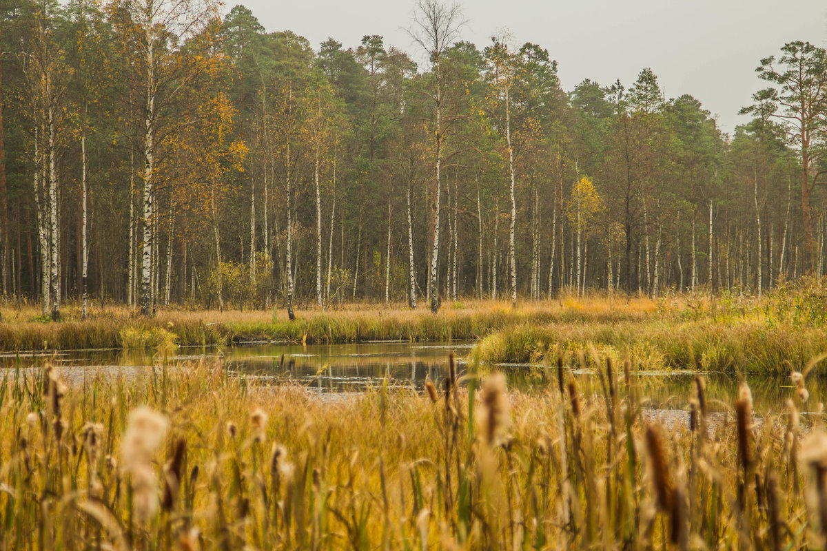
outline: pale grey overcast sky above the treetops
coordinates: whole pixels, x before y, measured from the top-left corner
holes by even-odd
[[[267,31],[291,30],[313,48],[328,36],[345,47],[364,35],[422,56],[411,43],[414,0],[243,0]],[[466,0],[462,38],[482,48],[507,28],[557,59],[564,89],[584,78],[620,78],[628,88],[651,67],[667,97],[689,93],[719,116],[724,131],[745,122],[740,107],[762,86],[754,69],[785,42],[827,46],[825,0]]]

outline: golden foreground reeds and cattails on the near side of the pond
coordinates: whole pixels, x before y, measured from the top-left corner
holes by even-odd
[[[463,380],[320,398],[220,364],[7,373],[2,547],[824,548],[827,435],[793,389],[753,423],[748,391],[712,416],[700,384],[662,427],[617,365]]]

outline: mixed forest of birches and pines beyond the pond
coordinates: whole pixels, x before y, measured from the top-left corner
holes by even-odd
[[[565,91],[541,45],[414,14],[409,52],[314,49],[212,0],[0,0],[4,296],[292,317],[825,273],[825,50],[759,52],[727,135],[650,69]]]

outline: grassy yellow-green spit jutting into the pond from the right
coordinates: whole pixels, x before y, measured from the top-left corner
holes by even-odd
[[[473,356],[484,363],[566,363],[595,356],[615,362],[635,358],[644,370],[696,369],[748,373],[789,373],[827,350],[821,325],[646,321],[517,325],[485,336]]]

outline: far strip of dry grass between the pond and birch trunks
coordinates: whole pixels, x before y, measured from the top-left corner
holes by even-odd
[[[0,323],[0,350],[153,348],[232,344],[275,340],[294,343],[353,343],[366,340],[476,340],[493,330],[531,323],[614,321],[642,318],[657,303],[633,299],[609,307],[600,297],[536,302],[511,308],[503,302],[471,302],[445,307],[437,315],[403,306],[354,305],[337,311],[298,311],[289,321],[284,311],[160,311],[142,318],[126,308],[93,310],[80,321],[75,306],[62,321],[43,321],[31,307],[6,310]]]

